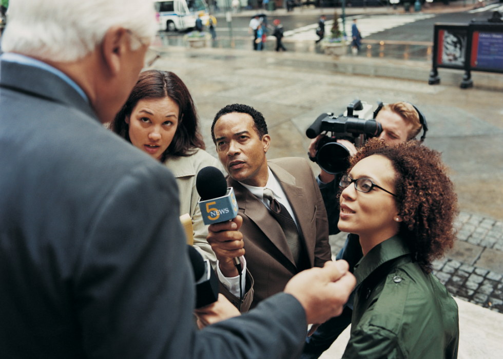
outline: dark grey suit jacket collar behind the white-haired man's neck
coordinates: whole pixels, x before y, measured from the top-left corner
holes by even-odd
[[[62,103],[98,120],[91,106],[72,86],[56,74],[42,68],[2,61],[0,87]]]

